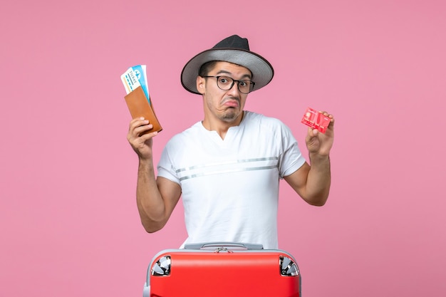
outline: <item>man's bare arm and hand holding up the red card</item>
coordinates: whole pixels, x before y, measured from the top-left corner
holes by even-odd
[[[284,177],[299,196],[315,206],[326,203],[331,186],[330,150],[333,146],[334,119],[333,115],[323,114],[331,118],[325,134],[308,128],[305,139],[311,166],[305,163],[299,170]]]

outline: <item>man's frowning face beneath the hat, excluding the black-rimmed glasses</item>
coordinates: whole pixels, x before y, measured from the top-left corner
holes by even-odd
[[[208,76],[227,76],[234,80],[251,80],[251,71],[243,66],[227,62],[217,62]],[[197,78],[197,89],[204,98],[204,115],[226,123],[237,120],[242,115],[248,94],[241,93],[237,82],[229,90],[217,86],[217,78]]]

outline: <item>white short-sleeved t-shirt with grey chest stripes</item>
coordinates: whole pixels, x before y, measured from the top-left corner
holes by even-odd
[[[185,244],[235,241],[277,249],[279,179],[305,161],[289,127],[244,111],[224,140],[201,122],[172,137],[157,170],[182,188]]]

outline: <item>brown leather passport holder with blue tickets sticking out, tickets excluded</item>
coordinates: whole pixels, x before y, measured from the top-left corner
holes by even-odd
[[[149,103],[145,97],[144,90],[142,90],[141,86],[135,88],[135,90],[125,95],[124,98],[132,118],[143,117],[146,120],[149,120],[149,123],[153,125],[152,129],[142,134],[155,131],[160,132],[162,130],[160,122],[158,121],[155,111],[153,110],[152,104]]]

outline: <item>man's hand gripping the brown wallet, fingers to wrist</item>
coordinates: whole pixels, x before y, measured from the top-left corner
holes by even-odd
[[[141,135],[142,132],[150,130],[152,127],[152,124],[144,118],[135,118],[130,121],[127,140],[142,160],[152,158],[152,137],[155,137],[158,132]]]

